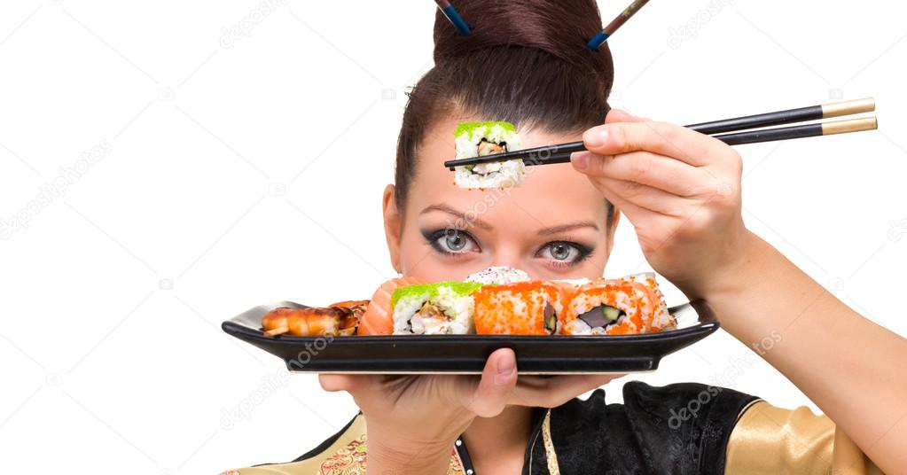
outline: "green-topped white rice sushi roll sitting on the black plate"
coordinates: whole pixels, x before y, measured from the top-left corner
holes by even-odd
[[[397,287],[391,296],[394,334],[473,333],[475,282]]]

